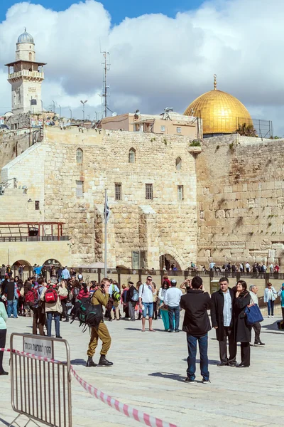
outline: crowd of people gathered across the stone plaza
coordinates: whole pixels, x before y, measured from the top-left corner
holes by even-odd
[[[35,266],[38,268],[39,266]],[[153,320],[161,318],[165,332],[180,332],[180,311],[185,310],[182,330],[187,333],[187,380],[195,379],[195,359],[197,342],[200,347],[201,374],[204,382],[209,381],[207,347],[207,332],[211,323],[207,310],[211,311],[212,327],[216,330],[219,342],[220,363],[218,366],[249,367],[251,329],[255,331],[256,346],[261,342],[261,324],[255,322],[248,325],[244,315],[246,307],[258,305],[258,288],[251,285],[247,289],[246,282],[239,280],[233,288],[229,288],[229,279],[219,280],[219,290],[211,297],[204,289],[202,278],[196,276],[188,279],[180,287],[176,280],[163,276],[160,289],[148,275],[146,283],[131,280],[120,287],[115,280],[104,278],[101,283],[95,280],[88,285],[81,273],[74,269],[58,268],[50,270],[50,278],[46,280],[43,271],[34,270],[35,275],[23,282],[17,275],[15,278],[5,271],[1,278],[0,287],[0,348],[5,347],[6,320],[19,316],[33,317],[33,334],[52,333],[52,320],[55,320],[55,337],[61,338],[60,321],[70,322],[80,319],[80,307],[90,301],[92,307],[101,307],[95,313],[96,322],[91,325],[91,339],[87,351],[87,367],[111,367],[107,360],[107,352],[111,346],[111,337],[106,321],[141,320],[141,332],[146,332],[146,317],[148,315],[148,330],[155,332]],[[268,305],[268,317],[273,316],[274,301],[280,296],[284,320],[284,283],[277,292],[271,283],[264,293],[264,301]],[[104,309],[103,309],[104,307]],[[120,310],[121,307],[121,310]],[[123,316],[124,314],[124,316]],[[93,356],[99,339],[102,349],[99,363],[95,364]],[[229,356],[227,355],[227,339],[229,341]],[[241,363],[236,363],[236,343],[241,343]],[[3,352],[0,352],[0,375],[7,374],[2,366]]]

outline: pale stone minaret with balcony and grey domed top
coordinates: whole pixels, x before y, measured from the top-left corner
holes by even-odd
[[[26,28],[16,43],[16,60],[6,65],[9,68],[8,81],[12,85],[12,112],[42,112],[41,82],[45,63],[35,61],[35,43]]]

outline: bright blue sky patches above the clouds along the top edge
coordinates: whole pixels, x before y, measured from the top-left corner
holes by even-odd
[[[189,9],[196,9],[200,4],[204,3],[202,0],[102,0],[100,1],[105,9],[111,14],[112,23],[120,23],[126,16],[133,18],[143,14],[165,14],[173,17],[178,11],[188,11]],[[6,0],[6,10],[13,4],[18,3],[14,0]],[[45,8],[53,9],[54,11],[62,11],[67,9],[71,4],[75,3],[72,0],[40,0],[31,1],[33,4],[41,4]],[[79,1],[77,1],[79,3]],[[6,10],[2,6],[0,9],[0,21],[5,19]]]

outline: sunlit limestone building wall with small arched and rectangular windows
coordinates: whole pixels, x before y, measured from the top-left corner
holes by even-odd
[[[41,221],[65,221],[72,265],[103,260],[107,189],[109,267],[131,267],[132,251],[146,251],[150,268],[158,269],[160,255],[169,254],[185,269],[197,251],[195,157],[200,148],[189,142],[182,136],[167,135],[165,141],[142,132],[47,127],[43,142],[6,165],[2,179],[16,176],[19,185],[28,186],[28,196],[40,200]],[[76,161],[78,148],[82,164]],[[131,148],[136,150],[134,164],[129,163]],[[76,195],[76,181],[84,181],[82,197]],[[153,200],[146,200],[146,183],[153,184]],[[121,184],[121,201],[115,200],[115,184]],[[184,186],[181,201],[178,185]]]

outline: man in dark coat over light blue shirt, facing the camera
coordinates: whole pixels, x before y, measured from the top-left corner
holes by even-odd
[[[228,278],[219,280],[220,289],[211,295],[211,322],[219,341],[220,363],[218,367],[236,366],[236,340],[234,337],[234,291],[229,288]],[[226,338],[229,340],[229,359]]]

